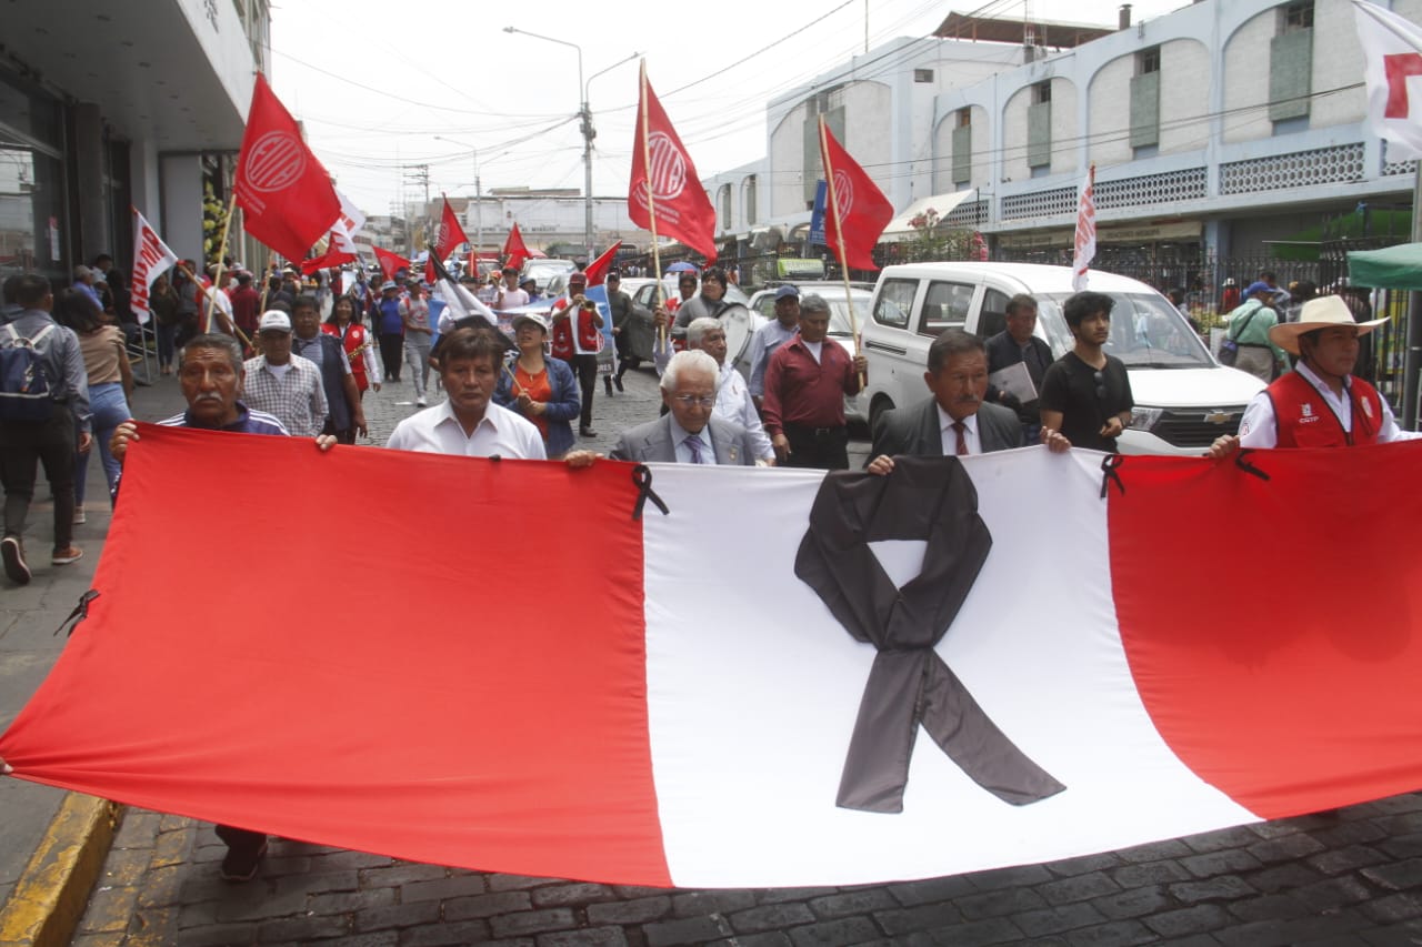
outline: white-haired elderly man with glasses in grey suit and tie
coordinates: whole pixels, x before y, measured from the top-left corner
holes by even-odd
[[[720,387],[715,358],[700,350],[678,351],[661,374],[667,414],[623,431],[609,456],[663,464],[755,464],[749,432],[739,424],[712,417]]]

